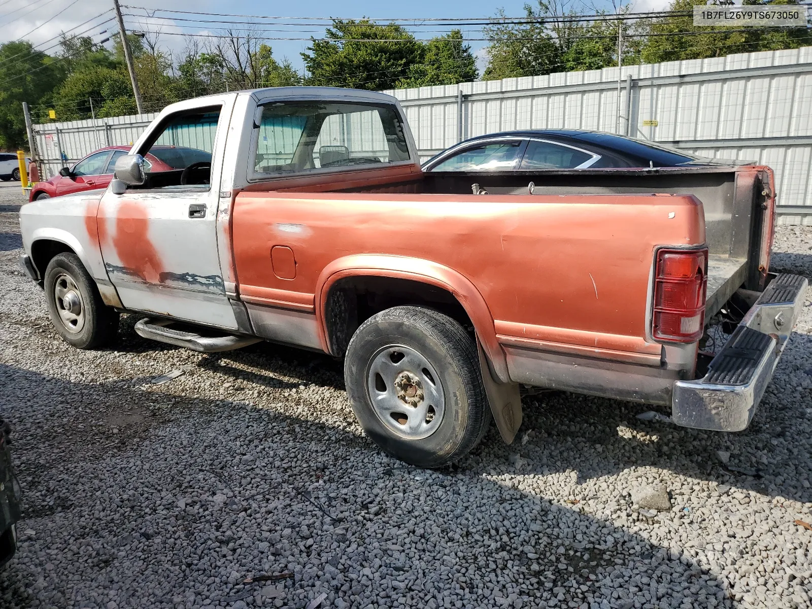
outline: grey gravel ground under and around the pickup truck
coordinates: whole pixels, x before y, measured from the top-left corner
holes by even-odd
[[[546,393],[512,447],[492,426],[434,472],[365,437],[329,357],[201,356],[132,317],[115,349],[68,347],[17,270],[18,188],[0,188],[0,408],[24,490],[6,607],[810,607],[793,521],[812,521],[812,293],[745,432]],[[812,227],[775,249],[812,274]]]

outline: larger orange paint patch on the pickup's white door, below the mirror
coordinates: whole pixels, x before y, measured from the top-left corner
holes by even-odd
[[[147,283],[158,283],[163,266],[148,232],[146,210],[133,201],[123,202],[115,220],[115,252],[127,270]]]

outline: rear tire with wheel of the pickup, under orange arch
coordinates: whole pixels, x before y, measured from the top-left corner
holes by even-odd
[[[400,353],[402,361],[420,361],[415,357],[421,356],[428,364],[422,368],[413,363],[399,367],[400,360],[396,359],[399,347],[406,351],[405,356]],[[387,357],[393,362],[392,368]],[[426,375],[428,368],[434,369],[437,379],[434,374]],[[385,373],[391,371],[391,374],[384,379],[383,374],[375,372],[377,369]],[[412,374],[406,378],[415,380],[411,387],[408,383],[412,381],[407,380],[405,385],[412,394],[403,390],[404,374]],[[348,345],[344,381],[352,410],[369,438],[395,459],[418,467],[438,468],[460,460],[482,439],[490,423],[490,407],[482,386],[475,341],[451,317],[430,309],[395,307],[369,317],[352,335]],[[434,387],[430,388],[430,384]],[[413,434],[408,430],[408,425],[412,425],[412,419],[407,419],[408,413],[390,409],[386,412],[394,422],[384,423],[386,414],[373,404],[371,391],[376,392],[376,403],[382,404],[378,400],[385,398],[388,404],[398,404],[407,412],[417,412],[417,408],[408,411],[409,406],[405,403],[401,406],[397,400],[414,400],[413,392],[417,391],[419,405],[429,404],[434,399],[440,400],[431,397],[430,391],[434,391],[436,396],[443,395],[442,416],[435,423],[438,411],[432,415],[433,406],[429,405],[429,416],[425,421],[417,417],[417,425],[425,422],[422,433],[430,434],[420,437],[419,428]],[[394,393],[387,393],[389,391]],[[401,429],[403,434],[395,433]],[[408,434],[412,437],[407,437]]]

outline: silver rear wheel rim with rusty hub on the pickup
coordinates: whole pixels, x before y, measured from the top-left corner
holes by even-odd
[[[378,349],[367,368],[369,402],[378,419],[408,440],[428,438],[446,410],[439,374],[420,352],[405,345]]]

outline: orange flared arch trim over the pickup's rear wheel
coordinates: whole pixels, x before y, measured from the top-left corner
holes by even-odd
[[[314,303],[319,340],[326,352],[339,355],[335,352],[330,337],[330,323],[326,314],[331,293],[343,279],[364,277],[402,279],[447,292],[467,314],[496,376],[502,382],[510,382],[508,363],[496,339],[494,318],[485,298],[463,274],[422,258],[356,254],[339,258],[327,265],[319,275]]]

